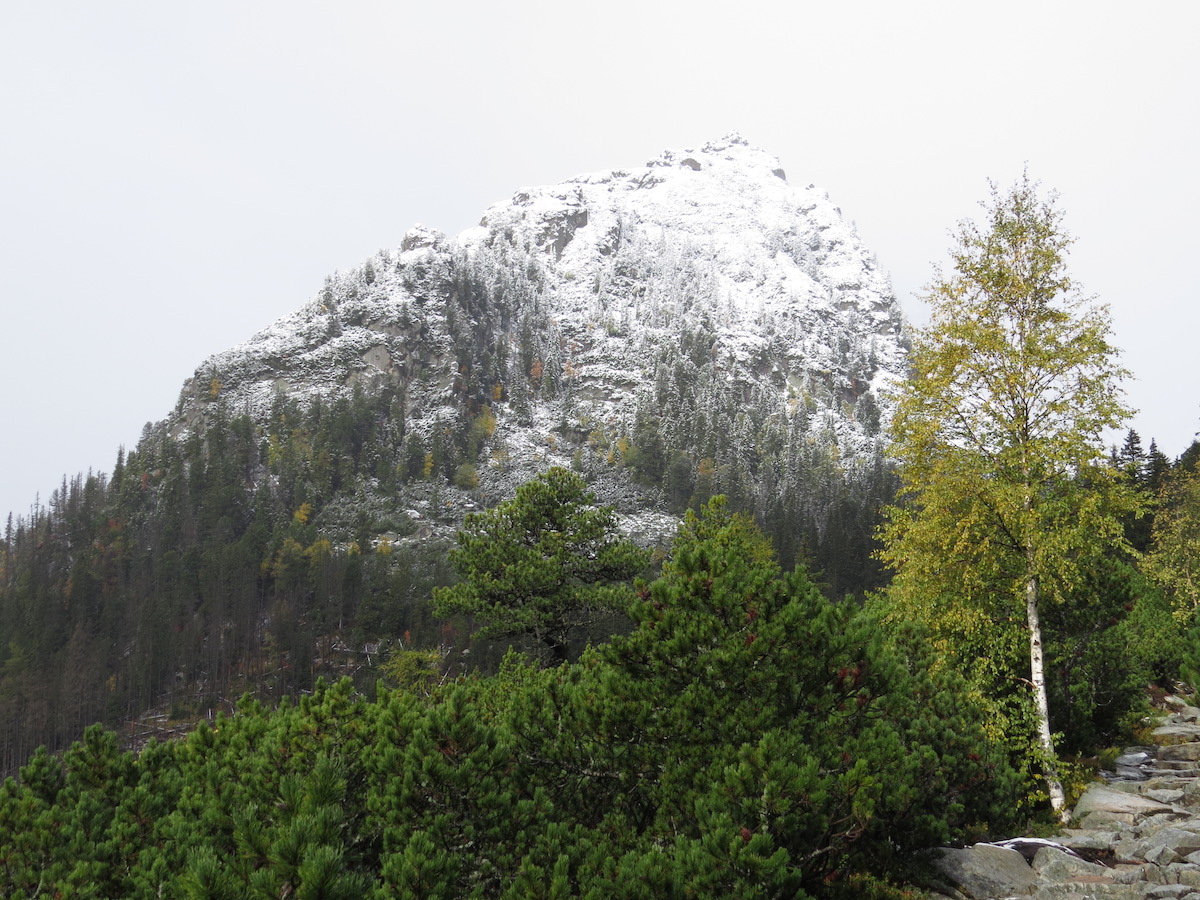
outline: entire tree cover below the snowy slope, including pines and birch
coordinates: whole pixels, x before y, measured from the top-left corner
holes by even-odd
[[[1200,680],[1200,443],[1105,445],[1128,373],[1061,210],[986,209],[848,475],[766,415],[752,457],[667,445],[676,392],[450,544],[479,379],[432,443],[388,389],[215,401],[10,517],[5,895],[901,898],[922,848],[1062,821]]]

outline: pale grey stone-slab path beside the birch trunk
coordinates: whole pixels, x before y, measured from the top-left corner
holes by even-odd
[[[1130,748],[1049,840],[944,850],[934,900],[1200,900],[1200,708],[1169,698],[1154,746]]]

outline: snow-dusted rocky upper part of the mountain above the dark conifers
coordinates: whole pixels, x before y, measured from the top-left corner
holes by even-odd
[[[448,320],[458,312],[469,320]],[[805,392],[839,401],[829,424],[847,440],[863,431],[847,409],[905,365],[887,275],[841,211],[730,136],[518,191],[457,239],[418,226],[398,252],[331,277],[307,306],[206,360],[179,413],[217,395],[264,410],[280,392],[389,379],[410,389],[409,406],[434,406],[458,374],[446,353],[458,326],[529,358],[512,371],[493,354],[481,378],[524,380],[540,361],[539,378],[570,380],[613,425],[653,389],[660,350],[685,337],[694,366],[769,383],[780,407]]]

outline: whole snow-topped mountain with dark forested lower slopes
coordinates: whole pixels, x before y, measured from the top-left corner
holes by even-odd
[[[445,550],[553,464],[646,544],[724,493],[832,595],[876,586],[905,355],[853,227],[738,136],[413,228],[7,529],[0,769],[94,719],[370,680],[382,642],[469,649],[428,611]]]

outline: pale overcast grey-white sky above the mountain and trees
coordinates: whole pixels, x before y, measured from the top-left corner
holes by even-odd
[[[1200,4],[0,6],[0,517],[414,223],[737,130],[913,294],[988,179],[1061,194],[1144,442],[1200,428]]]

